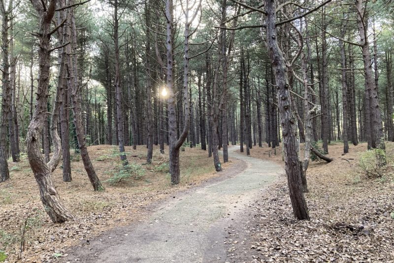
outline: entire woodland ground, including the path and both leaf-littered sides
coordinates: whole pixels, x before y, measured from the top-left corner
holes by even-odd
[[[49,221],[24,160],[11,164],[11,180],[0,184],[0,249],[16,261],[28,218],[23,262],[394,262],[394,144],[386,147],[380,177],[360,167],[361,160],[373,161],[366,144],[342,155],[343,144],[333,142],[333,162],[311,162],[310,221],[294,219],[281,147],[276,154],[253,147],[251,157],[230,147],[223,173],[214,172],[206,152],[186,148],[177,187],[169,185],[166,154],[155,148],[154,163],[142,165],[146,149],[127,148],[143,175],[105,182],[103,193],[91,190],[82,161],[75,160],[72,183],[62,182],[61,169],[54,173],[76,215],[66,224]],[[101,180],[122,174],[116,146],[90,152]]]

